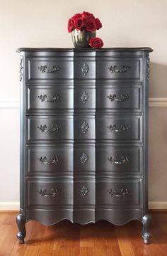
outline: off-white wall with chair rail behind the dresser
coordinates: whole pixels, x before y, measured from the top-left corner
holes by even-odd
[[[149,201],[167,207],[167,1],[166,0],[0,0],[0,208],[19,201],[18,47],[73,47],[68,18],[90,11],[100,18],[105,47],[149,46]],[[163,99],[162,99],[163,98]],[[163,100],[163,101],[162,101]],[[162,106],[165,106],[162,107]]]

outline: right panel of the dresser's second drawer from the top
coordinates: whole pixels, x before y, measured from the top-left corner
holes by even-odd
[[[142,86],[96,87],[96,109],[142,111]]]

